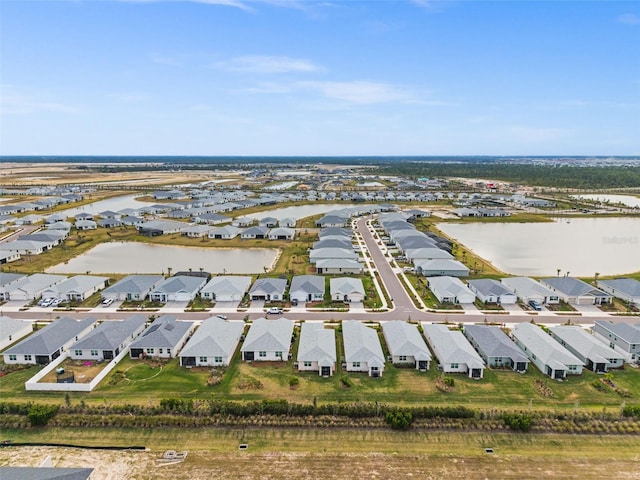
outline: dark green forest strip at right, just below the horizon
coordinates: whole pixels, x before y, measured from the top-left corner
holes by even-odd
[[[512,165],[498,163],[404,162],[387,164],[377,171],[380,174],[403,175],[412,178],[484,178],[556,188],[640,187],[640,165],[572,167],[565,165]]]

